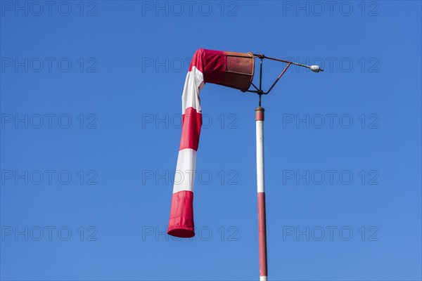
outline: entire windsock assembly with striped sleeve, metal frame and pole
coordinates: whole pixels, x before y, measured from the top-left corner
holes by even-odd
[[[255,70],[255,58],[260,58],[259,88],[252,83]],[[288,65],[274,81],[267,92],[262,91],[262,60],[276,60]],[[196,172],[196,151],[198,150],[202,111],[200,107],[200,91],[206,83],[219,84],[243,92],[257,93],[260,96],[259,107],[255,109],[256,148],[257,148],[257,207],[259,230],[260,280],[267,280],[267,232],[265,218],[264,187],[264,108],[261,107],[261,96],[274,88],[290,65],[307,67],[313,72],[321,72],[318,65],[302,65],[287,60],[269,58],[253,53],[235,53],[198,49],[191,60],[186,76],[183,95],[181,97],[181,140],[174,178],[172,207],[167,233],[176,237],[193,237],[193,184]],[[249,90],[250,86],[255,90]]]

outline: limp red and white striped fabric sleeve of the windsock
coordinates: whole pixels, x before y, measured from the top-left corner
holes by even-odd
[[[169,235],[195,236],[193,185],[196,172],[196,151],[202,126],[199,94],[205,83],[218,84],[225,71],[226,54],[223,51],[200,48],[193,55],[181,96],[181,139],[167,230]]]

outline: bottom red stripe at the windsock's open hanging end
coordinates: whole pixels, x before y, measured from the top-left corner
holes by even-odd
[[[195,236],[193,227],[193,192],[173,193],[167,233],[182,238],[193,237]]]

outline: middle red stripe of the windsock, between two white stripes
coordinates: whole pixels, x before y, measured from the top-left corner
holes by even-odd
[[[200,126],[202,126],[202,114],[195,108],[186,108],[181,119],[181,138],[179,150],[191,148],[198,150]]]

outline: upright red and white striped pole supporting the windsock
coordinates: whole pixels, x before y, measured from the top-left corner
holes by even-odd
[[[264,108],[255,109],[257,127],[257,191],[258,191],[258,233],[260,240],[260,281],[267,281],[267,223],[265,221],[264,181]]]

